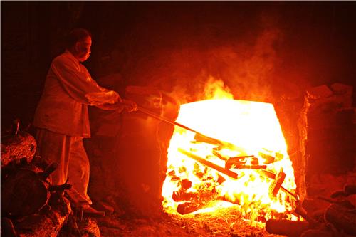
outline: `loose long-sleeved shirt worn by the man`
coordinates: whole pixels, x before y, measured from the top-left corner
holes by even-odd
[[[120,96],[102,88],[72,53],[56,57],[48,70],[35,127],[73,137],[90,137],[88,105],[114,104]]]

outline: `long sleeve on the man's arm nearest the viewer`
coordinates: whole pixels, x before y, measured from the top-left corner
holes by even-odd
[[[103,105],[114,104],[120,100],[115,91],[100,87],[80,63],[56,58],[51,68],[64,90],[78,102],[85,105]]]

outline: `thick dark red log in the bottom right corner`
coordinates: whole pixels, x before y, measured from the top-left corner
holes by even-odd
[[[352,209],[340,205],[331,204],[325,211],[325,221],[332,223],[336,228],[350,235],[356,235],[356,214]]]

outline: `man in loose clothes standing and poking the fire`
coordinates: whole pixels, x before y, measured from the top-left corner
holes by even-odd
[[[51,174],[51,184],[72,184],[70,199],[87,213],[97,213],[90,207],[87,194],[89,161],[83,138],[90,137],[88,105],[103,110],[137,110],[135,102],[122,100],[113,90],[100,87],[82,64],[90,56],[92,39],[85,29],[68,34],[66,51],[56,57],[48,70],[41,100],[33,125],[37,127],[37,154],[58,168]]]

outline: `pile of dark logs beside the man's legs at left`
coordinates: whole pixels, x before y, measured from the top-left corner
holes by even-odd
[[[65,191],[51,186],[56,164],[34,156],[36,140],[28,132],[1,137],[1,236],[100,236],[90,218],[80,219]]]

